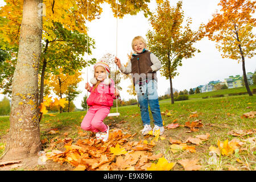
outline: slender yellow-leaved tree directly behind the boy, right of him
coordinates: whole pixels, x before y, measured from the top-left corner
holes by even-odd
[[[162,62],[161,75],[170,80],[171,104],[174,104],[172,79],[179,75],[177,67],[182,65],[183,59],[189,59],[195,52],[200,52],[193,44],[203,38],[201,28],[198,31],[191,30],[191,18],[183,26],[181,7],[181,1],[177,2],[176,7],[171,7],[169,1],[158,4],[156,13],[150,17],[153,30],[147,32],[148,48]]]

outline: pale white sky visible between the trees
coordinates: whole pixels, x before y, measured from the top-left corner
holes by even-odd
[[[152,0],[151,0],[152,1]],[[170,1],[171,6],[176,6],[177,0]],[[219,9],[218,2],[220,0],[183,0],[182,9],[184,11],[184,20],[188,17],[192,18],[192,30],[197,30],[201,23],[206,24],[212,18],[212,14]],[[0,5],[3,6],[3,0],[0,0]],[[149,4],[150,10],[154,11],[156,3],[153,0]],[[90,7],[89,7],[90,8]],[[85,56],[85,59],[95,57],[101,59],[106,53],[112,53],[121,60],[121,64],[125,64],[128,61],[127,54],[132,51],[131,40],[135,36],[143,36],[146,39],[148,30],[151,30],[148,19],[144,17],[143,13],[138,13],[135,16],[125,15],[124,18],[117,19],[113,17],[110,6],[106,3],[102,5],[103,12],[100,19],[89,22],[88,35],[96,41],[96,49],[93,49],[92,56]],[[117,47],[116,47],[117,42]],[[221,52],[216,48],[215,42],[204,38],[195,44],[195,47],[200,49],[200,53],[195,53],[195,56],[191,59],[183,59],[183,65],[177,68],[179,75],[172,79],[172,85],[177,90],[189,90],[190,88],[196,88],[199,85],[208,84],[209,81],[224,81],[224,78],[229,76],[242,75],[242,63],[238,63],[237,60],[223,59]],[[117,49],[116,49],[117,48]],[[256,69],[255,57],[247,59],[245,61],[246,72],[254,72]],[[87,76],[88,71],[88,78]],[[85,82],[90,83],[90,78],[93,77],[93,68],[88,67],[82,69],[82,78],[84,79],[79,83],[78,89],[82,91],[79,96],[76,97],[74,104],[77,108],[82,109],[81,101],[86,95],[84,89]],[[158,77],[158,95],[165,94],[168,88],[170,88],[170,81],[160,75],[160,71],[157,72]],[[129,80],[121,80],[120,96],[122,100],[129,100],[129,98],[137,98],[136,96],[130,96],[126,92],[127,85],[130,85]],[[88,93],[89,95],[89,93]],[[54,96],[53,96],[54,97]],[[3,95],[0,96],[0,99]]]

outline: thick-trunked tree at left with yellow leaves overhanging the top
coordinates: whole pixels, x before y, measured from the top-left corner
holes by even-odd
[[[59,22],[69,31],[86,34],[87,14],[88,21],[99,18],[102,13],[100,5],[104,2],[109,3],[115,12],[117,2],[109,0],[46,0],[44,4],[42,0],[6,0],[6,5],[1,7],[0,16],[4,18],[4,21],[0,22],[1,47],[18,47],[18,59],[12,82],[10,130],[3,159],[26,158],[36,155],[41,149],[38,74],[42,35],[49,41],[54,40],[52,27],[55,22]],[[121,1],[118,16],[135,15],[142,10],[144,15],[147,15],[149,2]],[[86,8],[88,3],[89,11]],[[46,16],[42,18],[44,5]]]

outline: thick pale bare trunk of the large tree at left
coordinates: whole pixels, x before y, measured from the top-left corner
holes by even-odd
[[[24,0],[18,61],[13,77],[10,130],[3,160],[27,158],[42,148],[39,131],[38,68],[41,56],[42,0]]]

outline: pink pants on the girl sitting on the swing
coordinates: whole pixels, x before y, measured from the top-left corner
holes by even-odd
[[[84,119],[82,119],[81,129],[92,132],[105,132],[108,130],[103,120],[108,116],[110,107],[90,106]]]

